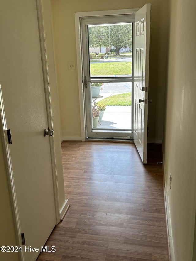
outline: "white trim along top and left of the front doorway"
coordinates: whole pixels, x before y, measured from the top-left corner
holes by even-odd
[[[84,87],[84,83],[83,83],[84,68],[82,65],[82,35],[81,35],[80,20],[82,17],[90,17],[90,16],[96,17],[96,16],[134,14],[138,10],[139,10],[139,8],[75,13],[77,73],[78,73],[80,120],[81,120],[81,140],[82,141],[85,141],[85,138],[86,138],[86,126],[85,126],[85,100],[84,100],[84,88],[85,87]]]

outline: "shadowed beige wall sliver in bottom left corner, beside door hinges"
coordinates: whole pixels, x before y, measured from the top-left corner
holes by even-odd
[[[12,207],[9,197],[9,188],[6,174],[6,165],[3,154],[2,147],[2,137],[0,133],[0,173],[1,173],[1,182],[0,182],[0,246],[16,246],[16,235],[13,225],[13,215]],[[0,251],[0,260],[10,261],[19,260],[18,253],[6,253]]]

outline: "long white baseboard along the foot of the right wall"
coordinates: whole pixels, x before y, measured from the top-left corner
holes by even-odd
[[[168,230],[169,261],[175,261],[174,245],[173,245],[172,229],[171,229],[170,207],[169,207],[169,199],[168,199],[168,185],[165,178],[164,163],[163,163],[163,175],[164,175],[165,211],[166,211],[166,219],[167,219],[166,221],[167,221],[167,230]]]

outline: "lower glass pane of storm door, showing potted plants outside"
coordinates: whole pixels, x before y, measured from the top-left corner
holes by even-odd
[[[92,129],[131,130],[132,83],[92,83]]]

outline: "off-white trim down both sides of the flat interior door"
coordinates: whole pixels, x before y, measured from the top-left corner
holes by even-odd
[[[50,81],[48,77],[48,64],[47,64],[47,51],[46,51],[46,43],[45,43],[45,32],[44,32],[44,21],[43,21],[43,13],[42,13],[42,0],[36,0],[37,6],[37,18],[38,18],[38,27],[39,27],[39,36],[40,36],[40,51],[41,51],[41,60],[42,60],[42,69],[43,69],[43,82],[44,82],[44,90],[45,90],[45,99],[46,99],[46,110],[47,110],[47,121],[48,127],[53,129],[52,122],[52,111],[51,111],[51,95],[50,95]],[[17,207],[17,197],[15,184],[13,179],[13,170],[12,170],[12,162],[11,155],[9,150],[8,138],[7,138],[7,126],[6,126],[6,117],[3,106],[3,96],[2,89],[0,83],[0,133],[2,134],[2,147],[5,158],[6,165],[6,173],[8,179],[8,187],[10,194],[10,202],[12,206],[13,212],[13,222],[16,234],[17,245],[22,245],[21,238],[21,226],[20,219]],[[53,178],[53,193],[54,193],[54,202],[55,202],[55,217],[56,224],[58,224],[61,220],[60,209],[59,209],[59,200],[58,200],[58,184],[57,184],[57,168],[56,168],[56,157],[55,157],[55,143],[54,139],[50,140],[50,153],[51,153],[51,164],[52,164],[52,178]],[[67,207],[68,200],[65,200],[63,210]],[[20,261],[25,261],[25,257],[23,251],[18,252],[18,257]]]

